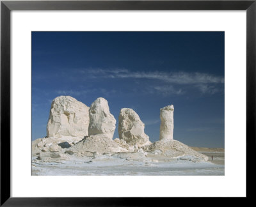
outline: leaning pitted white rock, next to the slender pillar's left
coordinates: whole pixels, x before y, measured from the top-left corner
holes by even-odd
[[[119,114],[118,134],[119,139],[124,140],[127,144],[145,146],[151,144],[149,137],[144,132],[145,125],[140,116],[129,108],[123,108]]]

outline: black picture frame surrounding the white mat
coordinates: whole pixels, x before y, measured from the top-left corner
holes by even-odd
[[[10,12],[12,10],[246,10],[246,198],[253,197],[256,123],[256,0],[1,1],[1,206],[151,206],[153,197],[10,197]],[[239,81],[239,80],[237,80]],[[234,100],[236,102],[236,100]],[[234,103],[236,104],[236,103]],[[250,165],[251,164],[251,165]],[[158,198],[161,203],[164,199]],[[160,203],[159,203],[160,204]]]

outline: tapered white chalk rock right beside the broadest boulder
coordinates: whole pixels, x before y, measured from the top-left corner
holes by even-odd
[[[108,101],[105,98],[97,98],[89,109],[90,124],[88,135],[104,134],[109,139],[113,138],[116,119],[109,112]]]

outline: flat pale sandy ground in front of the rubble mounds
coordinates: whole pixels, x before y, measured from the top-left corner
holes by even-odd
[[[198,150],[198,149],[197,149]],[[198,150],[200,151],[200,149]],[[224,152],[201,152],[209,157],[209,161],[198,161],[193,157],[184,156],[164,160],[157,155],[132,158],[125,153],[97,155],[94,157],[70,156],[70,160],[62,162],[38,162],[32,158],[32,175],[78,176],[78,175],[224,175]],[[213,160],[211,161],[211,156]]]

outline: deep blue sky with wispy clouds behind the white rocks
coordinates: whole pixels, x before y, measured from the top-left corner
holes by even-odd
[[[224,58],[224,32],[32,32],[32,139],[69,95],[89,107],[106,98],[114,138],[126,107],[159,140],[159,110],[173,104],[173,139],[224,148]]]

